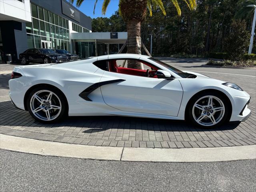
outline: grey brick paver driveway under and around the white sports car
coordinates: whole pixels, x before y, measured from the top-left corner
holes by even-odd
[[[181,70],[198,71],[212,78],[234,82],[251,96],[252,114],[242,123],[228,123],[203,130],[183,121],[148,118],[70,117],[59,124],[41,124],[28,112],[12,106],[8,97],[10,74],[0,74],[0,133],[96,146],[148,148],[199,148],[256,144],[256,71],[255,69],[208,68],[203,59],[162,58]],[[6,71],[13,66],[2,66]]]

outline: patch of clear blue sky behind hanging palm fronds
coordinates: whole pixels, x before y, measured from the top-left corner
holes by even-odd
[[[102,15],[101,13],[103,0],[98,0],[95,8],[95,14],[93,14],[95,0],[84,0],[84,2],[81,4],[81,6],[78,9],[91,18],[97,18],[97,17],[109,18],[110,16],[112,16],[112,14],[115,13],[115,11],[118,10],[118,2],[119,0],[111,0],[110,3],[108,4],[108,8],[105,15]],[[76,0],[74,0],[73,5],[76,7]]]

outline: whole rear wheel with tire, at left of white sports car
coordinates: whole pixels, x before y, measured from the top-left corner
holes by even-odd
[[[30,92],[27,100],[30,115],[46,123],[54,123],[66,116],[66,99],[56,88],[35,88]]]

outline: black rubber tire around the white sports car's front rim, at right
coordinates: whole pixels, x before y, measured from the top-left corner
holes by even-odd
[[[205,97],[205,96],[215,96],[215,97],[219,98],[222,101],[222,103],[224,104],[224,114],[222,114],[222,119],[220,119],[220,121],[217,122],[214,125],[208,125],[208,126],[202,125],[201,121],[199,121],[199,123],[198,123],[198,122],[196,122],[196,120],[193,117],[193,106],[194,106],[194,104],[200,98]],[[204,111],[202,111],[202,112],[204,112]],[[206,113],[207,113],[207,111],[206,111]],[[216,113],[218,113],[218,112],[216,112]],[[231,107],[230,107],[230,101],[228,100],[228,98],[226,98],[225,96],[223,96],[222,94],[220,94],[218,92],[202,92],[202,93],[197,94],[196,96],[194,96],[189,101],[188,106],[187,106],[187,110],[186,110],[186,121],[189,122],[189,123],[192,122],[194,125],[196,125],[198,127],[201,127],[201,128],[207,128],[207,129],[208,128],[214,128],[214,127],[220,126],[224,122],[228,121],[229,118],[230,118],[230,113],[231,113]],[[207,118],[206,118],[206,120],[207,120]]]

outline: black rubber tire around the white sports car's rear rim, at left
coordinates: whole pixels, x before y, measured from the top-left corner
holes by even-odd
[[[56,118],[54,118],[53,120],[42,120],[40,118],[38,118],[33,112],[32,112],[32,108],[30,106],[30,101],[32,96],[38,92],[38,91],[42,91],[42,90],[48,90],[53,92],[54,94],[56,94],[56,96],[58,96],[60,102],[61,102],[61,109],[60,109],[60,113],[58,114],[58,116]],[[56,99],[57,100],[57,99]],[[57,88],[54,88],[52,86],[40,86],[37,88],[34,88],[28,95],[27,100],[26,100],[26,105],[27,105],[27,109],[28,112],[30,113],[30,115],[37,121],[39,122],[43,122],[43,123],[56,123],[59,122],[60,120],[62,120],[63,118],[65,118],[68,115],[68,103],[66,100],[66,97],[64,96],[64,94],[58,90]],[[53,109],[51,109],[52,112],[54,112]],[[50,110],[49,110],[50,111]],[[41,111],[43,113],[43,111]]]

